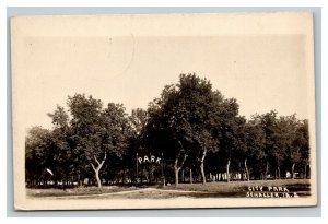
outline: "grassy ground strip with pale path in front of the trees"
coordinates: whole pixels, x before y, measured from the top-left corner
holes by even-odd
[[[189,198],[244,198],[270,196],[306,197],[311,193],[309,180],[253,180],[232,182],[179,184],[177,188],[171,186],[104,186],[102,191],[96,187],[60,189],[27,189],[32,198],[47,199],[167,199],[176,197]],[[295,194],[295,193],[296,194]],[[273,194],[272,194],[273,193]],[[277,194],[274,194],[277,193]]]

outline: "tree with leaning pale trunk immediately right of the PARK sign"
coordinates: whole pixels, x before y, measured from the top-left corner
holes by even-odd
[[[184,119],[186,111],[178,107],[179,92],[176,85],[166,85],[161,97],[149,104],[149,119],[144,139],[151,148],[165,150],[168,160],[174,160],[175,185],[178,186],[178,173],[181,169],[190,143],[189,123]]]

